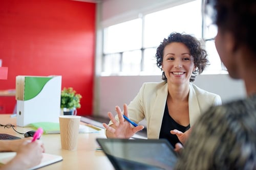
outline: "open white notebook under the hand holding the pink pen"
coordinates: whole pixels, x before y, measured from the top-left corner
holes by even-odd
[[[6,164],[7,162],[9,162],[15,155],[16,155],[16,152],[0,152],[0,166],[1,164]],[[37,169],[37,168],[47,166],[59,161],[62,161],[61,156],[43,153],[41,163],[30,169]]]

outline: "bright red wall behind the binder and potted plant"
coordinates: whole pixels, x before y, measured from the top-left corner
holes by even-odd
[[[93,110],[96,4],[70,0],[1,0],[0,59],[8,79],[0,90],[15,89],[18,75],[61,75],[62,88],[82,95],[79,115]],[[12,113],[15,97],[1,97]],[[0,110],[1,111],[1,110]]]

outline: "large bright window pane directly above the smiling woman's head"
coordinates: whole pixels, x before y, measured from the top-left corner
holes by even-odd
[[[144,18],[144,47],[157,47],[171,32],[185,32],[202,37],[200,1],[147,14]]]

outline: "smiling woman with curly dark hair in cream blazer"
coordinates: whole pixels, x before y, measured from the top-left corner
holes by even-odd
[[[191,83],[208,63],[207,53],[195,37],[170,34],[158,46],[156,60],[164,81],[144,83],[130,105],[124,105],[123,114],[136,124],[145,118],[147,138],[166,138],[175,146],[186,140],[179,140],[176,134],[188,135],[199,115],[211,105],[221,104],[221,98]],[[130,138],[143,128],[125,121],[119,107],[116,112],[116,117],[108,113],[109,125],[103,124],[107,137]],[[171,134],[173,129],[178,131]]]

